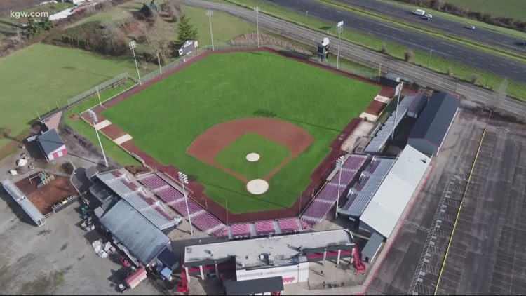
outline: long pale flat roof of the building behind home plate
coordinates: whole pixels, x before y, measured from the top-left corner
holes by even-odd
[[[259,255],[271,253],[276,258],[274,266],[290,265],[292,258],[300,254],[299,247],[302,248],[302,255],[306,255],[309,249],[350,250],[354,248],[354,241],[346,229],[335,229],[192,245],[184,249],[184,264],[191,267],[208,265],[208,262],[214,260],[236,257],[236,263],[242,268],[269,267],[266,260],[259,259]]]

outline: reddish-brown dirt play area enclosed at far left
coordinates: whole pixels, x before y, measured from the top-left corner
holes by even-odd
[[[37,174],[35,173],[31,177]],[[56,203],[76,194],[75,188],[67,177],[55,175],[55,180],[51,180],[50,183],[37,188],[36,185],[39,182],[39,177],[32,179],[31,182],[29,182],[29,177],[27,177],[16,182],[15,185],[43,215],[50,213],[52,206]]]

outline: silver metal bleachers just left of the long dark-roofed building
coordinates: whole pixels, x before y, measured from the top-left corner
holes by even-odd
[[[364,152],[379,153],[382,151],[387,140],[389,140],[389,137],[391,137],[391,134],[393,133],[393,125],[395,125],[396,128],[400,121],[402,121],[405,114],[407,114],[407,107],[410,105],[413,98],[414,96],[407,96],[400,100],[400,104],[398,105],[398,112],[393,111],[391,113],[391,116],[389,116],[389,118],[384,122],[384,126],[380,128],[375,137],[372,138],[371,142],[367,144],[367,146],[363,150]]]

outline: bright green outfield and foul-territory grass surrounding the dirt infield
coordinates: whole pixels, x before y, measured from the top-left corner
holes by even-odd
[[[377,86],[280,55],[229,53],[189,65],[102,115],[130,133],[144,152],[195,176],[210,198],[223,205],[228,199],[229,210],[246,213],[292,206],[330,152],[330,142],[378,92]],[[260,109],[304,128],[316,142],[274,175],[269,191],[255,196],[236,177],[186,150],[208,128],[254,117]]]

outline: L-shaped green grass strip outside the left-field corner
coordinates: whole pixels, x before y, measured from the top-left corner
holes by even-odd
[[[102,93],[100,93],[100,98],[102,101],[107,100],[110,97],[113,97],[114,95],[117,95],[134,85],[135,83],[133,83],[133,81],[128,81],[128,83],[124,84],[123,86],[109,88],[108,90],[104,90]],[[97,148],[99,147],[99,142],[97,140],[97,135],[95,135],[95,130],[93,130],[93,127],[86,123],[86,121],[83,121],[82,119],[72,119],[71,116],[74,114],[78,115],[81,112],[84,112],[87,109],[94,107],[98,103],[98,97],[93,97],[90,100],[86,100],[78,105],[74,105],[73,107],[67,109],[62,115],[64,122],[68,126],[76,130],[77,133],[80,133],[83,137],[86,138],[86,140],[90,141]],[[130,154],[128,154],[119,146],[117,146],[113,141],[108,140],[107,137],[101,135],[100,140],[102,142],[102,146],[104,147],[104,152],[107,154],[107,156],[119,163],[121,166],[140,164],[140,162],[137,161],[137,159],[130,156]]]

